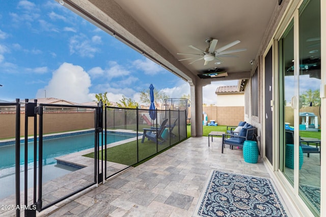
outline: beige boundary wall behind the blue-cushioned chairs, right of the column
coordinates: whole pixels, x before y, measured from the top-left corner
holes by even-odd
[[[215,120],[218,125],[238,126],[244,120],[244,106],[207,106],[203,107],[208,122]]]

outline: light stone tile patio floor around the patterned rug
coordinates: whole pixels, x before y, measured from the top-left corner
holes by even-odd
[[[212,169],[270,177],[260,158],[249,164],[241,149],[224,151],[221,138],[210,147],[207,137],[189,138],[37,216],[192,216]]]

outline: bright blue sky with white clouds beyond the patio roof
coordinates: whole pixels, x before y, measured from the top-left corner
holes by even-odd
[[[139,92],[189,94],[189,84],[51,0],[5,1],[0,8],[0,100],[53,97],[76,103],[108,92],[139,103]],[[203,103],[216,102],[219,85],[203,89]]]

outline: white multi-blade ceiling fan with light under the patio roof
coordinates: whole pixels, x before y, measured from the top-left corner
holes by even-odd
[[[239,55],[232,55],[229,53],[236,53],[236,52],[240,52],[240,51],[245,51],[247,50],[246,48],[242,48],[242,49],[236,49],[236,50],[226,50],[238,43],[240,43],[239,40],[236,40],[234,42],[231,42],[221,48],[218,48],[215,50],[216,45],[218,44],[218,40],[217,39],[212,39],[212,38],[207,38],[205,40],[205,42],[207,42],[209,44],[209,46],[206,48],[206,50],[202,50],[199,49],[193,45],[189,45],[190,48],[193,48],[197,51],[200,51],[201,53],[177,53],[177,54],[182,54],[182,55],[196,55],[198,56],[196,60],[192,61],[189,64],[193,64],[198,60],[204,59],[205,63],[204,66],[208,64],[209,61],[212,61],[214,59],[217,59],[220,63],[223,63],[223,60],[220,57],[238,57]],[[179,59],[179,61],[182,60],[186,60],[186,59],[193,59],[195,57],[190,57],[190,58],[185,58],[185,59]]]

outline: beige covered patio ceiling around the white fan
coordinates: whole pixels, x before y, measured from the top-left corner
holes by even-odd
[[[59,0],[58,0],[59,1]],[[161,64],[189,83],[250,78],[251,60],[257,59],[267,26],[278,0],[64,0],[75,10],[108,34]],[[217,39],[214,50],[231,42],[240,43],[225,49],[245,51],[229,53],[238,57],[220,56],[204,65],[197,59],[199,50],[206,50],[206,38]],[[195,57],[193,59],[180,59]],[[198,56],[201,57],[201,56]],[[217,68],[217,69],[216,69]],[[208,72],[227,72],[227,77],[200,79]]]

